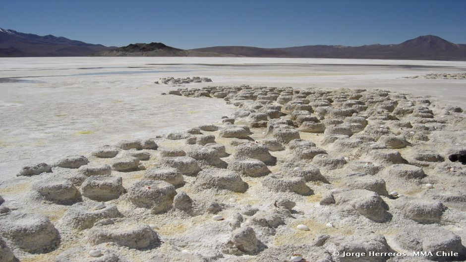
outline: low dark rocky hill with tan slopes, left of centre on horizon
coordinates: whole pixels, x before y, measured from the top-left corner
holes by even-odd
[[[162,43],[130,44],[126,47],[96,53],[97,56],[236,56],[212,52],[182,50]]]

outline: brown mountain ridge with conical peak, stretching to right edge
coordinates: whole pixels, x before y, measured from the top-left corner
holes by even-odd
[[[466,60],[466,46],[436,36],[420,36],[401,44],[345,46],[302,46],[262,49],[251,47],[211,47],[193,49],[202,52],[223,52],[250,57],[315,57],[416,60]]]

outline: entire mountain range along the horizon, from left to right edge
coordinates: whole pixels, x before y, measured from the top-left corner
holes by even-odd
[[[162,43],[106,47],[53,35],[38,36],[0,28],[0,57],[18,56],[241,56],[315,57],[416,60],[466,60],[466,45],[454,44],[437,36],[420,36],[401,44],[346,46],[302,46],[257,48],[241,46],[182,50]]]

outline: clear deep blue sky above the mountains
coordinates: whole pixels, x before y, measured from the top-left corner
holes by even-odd
[[[466,0],[1,0],[0,27],[106,46],[466,44]]]

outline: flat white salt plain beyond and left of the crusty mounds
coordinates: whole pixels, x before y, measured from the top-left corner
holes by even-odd
[[[462,73],[466,62],[206,57],[35,57],[0,59],[0,179],[34,162],[96,146],[217,121],[221,100],[161,96],[162,77],[210,77],[208,85],[386,89],[466,107],[466,82],[406,79]],[[21,82],[14,82],[15,80]]]

